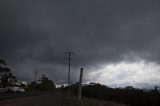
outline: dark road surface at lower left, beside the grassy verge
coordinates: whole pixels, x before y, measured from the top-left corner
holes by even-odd
[[[62,106],[56,92],[0,101],[0,106]]]

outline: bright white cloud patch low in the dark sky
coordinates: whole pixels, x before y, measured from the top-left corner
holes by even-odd
[[[160,66],[154,62],[119,62],[102,65],[89,74],[89,80],[111,87],[143,87],[146,83],[160,84]]]

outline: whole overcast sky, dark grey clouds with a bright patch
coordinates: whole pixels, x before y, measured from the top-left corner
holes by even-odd
[[[1,0],[0,58],[17,78],[160,84],[159,0]]]

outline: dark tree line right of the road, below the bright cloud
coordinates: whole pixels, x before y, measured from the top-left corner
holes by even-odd
[[[68,87],[62,86],[61,91],[67,91]],[[70,86],[71,94],[77,95],[78,83]],[[157,89],[145,92],[142,89],[136,89],[132,86],[125,88],[110,88],[100,83],[85,84],[82,87],[82,96],[115,101],[130,106],[160,106],[160,93]]]

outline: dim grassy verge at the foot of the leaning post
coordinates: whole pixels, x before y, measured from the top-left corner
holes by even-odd
[[[66,94],[61,94],[63,106],[127,106],[111,101],[100,101],[89,98],[82,98],[81,101],[78,100],[76,96],[67,96]]]

